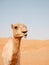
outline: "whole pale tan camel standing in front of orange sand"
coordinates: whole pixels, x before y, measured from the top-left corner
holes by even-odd
[[[20,65],[20,42],[27,37],[27,26],[24,24],[11,24],[13,36],[3,48],[2,58],[4,65]]]

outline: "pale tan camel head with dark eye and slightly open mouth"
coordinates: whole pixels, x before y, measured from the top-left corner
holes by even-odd
[[[13,30],[13,36],[15,38],[27,37],[27,26],[24,24],[11,24],[11,28]]]

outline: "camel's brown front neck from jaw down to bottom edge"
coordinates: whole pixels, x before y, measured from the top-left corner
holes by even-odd
[[[20,65],[20,41],[21,38],[13,38],[13,54],[9,65]]]

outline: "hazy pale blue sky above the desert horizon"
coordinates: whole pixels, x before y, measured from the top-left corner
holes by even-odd
[[[11,37],[11,24],[24,23],[28,39],[49,39],[49,0],[0,0],[0,37]]]

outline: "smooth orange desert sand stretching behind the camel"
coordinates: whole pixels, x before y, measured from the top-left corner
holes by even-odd
[[[0,65],[2,50],[9,38],[0,38]],[[21,65],[49,65],[49,40],[22,40]]]

